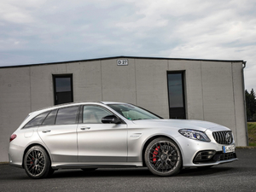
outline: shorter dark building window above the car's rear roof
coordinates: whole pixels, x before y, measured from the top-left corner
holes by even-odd
[[[73,102],[73,75],[53,75],[55,105]]]

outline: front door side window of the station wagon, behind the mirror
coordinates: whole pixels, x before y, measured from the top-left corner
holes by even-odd
[[[101,124],[102,118],[112,115],[107,109],[97,106],[84,106],[83,123]]]

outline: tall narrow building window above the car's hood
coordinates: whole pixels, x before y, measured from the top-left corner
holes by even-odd
[[[167,73],[170,119],[186,119],[183,76],[184,72]]]

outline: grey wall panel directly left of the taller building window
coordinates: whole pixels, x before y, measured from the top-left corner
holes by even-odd
[[[137,105],[169,118],[167,60],[136,60]]]

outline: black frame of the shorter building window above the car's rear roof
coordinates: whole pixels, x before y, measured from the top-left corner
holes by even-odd
[[[58,103],[58,98],[57,98],[57,92],[56,92],[56,79],[58,78],[70,78],[70,91],[67,92],[71,92],[71,101],[73,102],[73,74],[72,73],[68,73],[68,74],[52,74],[52,79],[53,79],[53,87],[54,87],[54,104],[55,105],[59,105],[59,104],[63,104],[63,103],[69,103],[69,102],[61,102]],[[66,91],[63,91],[66,92]]]

